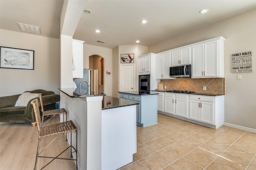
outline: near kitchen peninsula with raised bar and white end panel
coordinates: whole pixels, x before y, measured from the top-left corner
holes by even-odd
[[[74,88],[59,90],[60,106],[78,127],[78,169],[117,169],[132,162],[136,153],[137,102],[92,91],[79,95]]]

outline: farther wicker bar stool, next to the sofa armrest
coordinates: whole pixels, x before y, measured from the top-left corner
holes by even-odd
[[[52,119],[54,116],[56,115],[63,115],[63,122],[64,122],[64,115],[66,115],[66,121],[67,121],[67,111],[64,108],[61,109],[53,109],[53,110],[49,110],[49,111],[44,111],[44,105],[43,105],[43,100],[42,100],[42,93],[38,94],[39,99],[40,99],[40,103],[41,103],[41,111],[43,113],[42,116],[42,125],[43,125],[43,121],[44,119],[46,119],[48,116],[52,116],[50,119]],[[48,119],[45,123],[47,123],[48,121],[50,121],[50,119]],[[44,123],[44,124],[45,124]]]

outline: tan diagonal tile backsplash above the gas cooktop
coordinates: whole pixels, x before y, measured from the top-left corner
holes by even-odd
[[[187,90],[199,93],[225,94],[225,78],[162,79],[166,90]],[[203,87],[206,86],[206,90]]]

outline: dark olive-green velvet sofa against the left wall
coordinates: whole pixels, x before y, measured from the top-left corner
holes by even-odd
[[[60,101],[60,95],[55,94],[53,91],[37,89],[29,92],[42,93],[44,111],[55,109],[56,102]],[[34,115],[33,106],[31,105],[31,101],[35,98],[31,99],[26,107],[15,107],[15,103],[20,95],[0,97],[0,122],[32,123],[34,126],[36,125],[34,124],[36,122],[36,118]],[[39,100],[39,97],[36,98]],[[41,113],[41,105],[39,101],[38,103]]]

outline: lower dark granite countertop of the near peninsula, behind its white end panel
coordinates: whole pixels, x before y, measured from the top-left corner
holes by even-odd
[[[138,102],[128,101],[126,99],[121,99],[121,98],[116,98],[111,96],[103,96],[102,110],[131,106],[131,105],[139,105],[139,104],[140,103]]]

